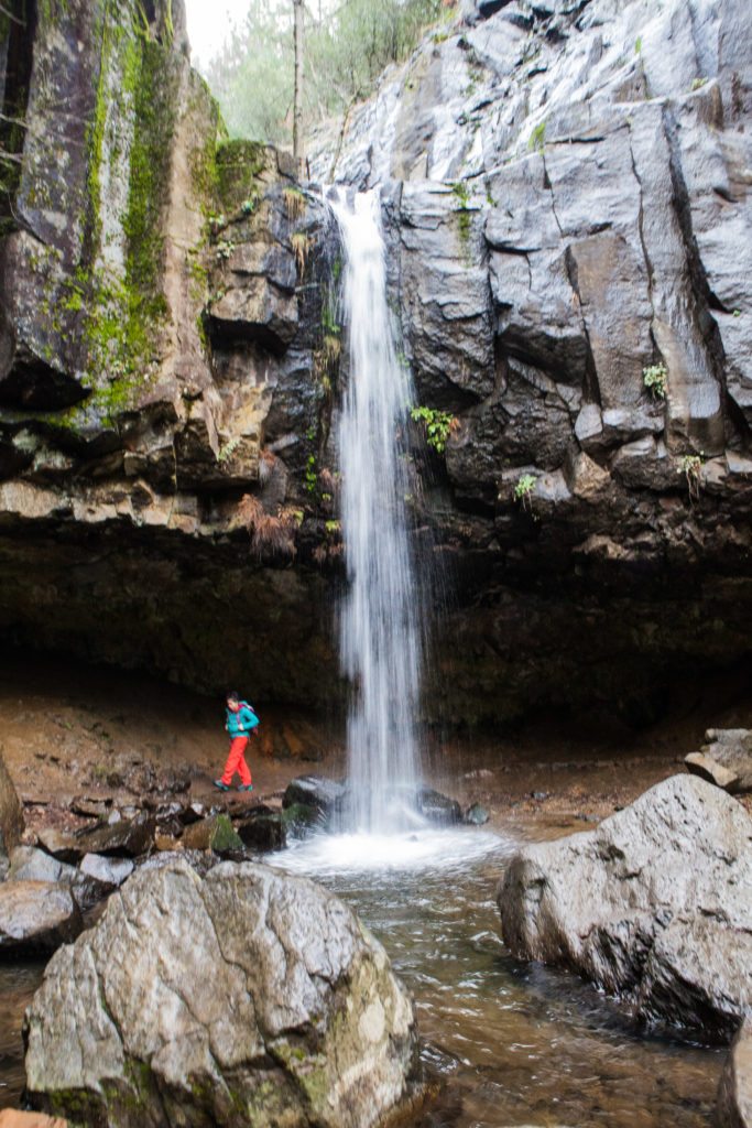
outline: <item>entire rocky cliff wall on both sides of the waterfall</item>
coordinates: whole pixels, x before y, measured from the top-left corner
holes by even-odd
[[[635,716],[749,654],[744,7],[470,6],[320,140],[321,179],[387,182],[402,350],[421,404],[457,421],[441,456],[415,434],[416,526],[453,592],[428,715],[443,687],[458,721]],[[321,704],[325,210],[282,155],[218,141],[177,0],[14,15],[0,632]]]

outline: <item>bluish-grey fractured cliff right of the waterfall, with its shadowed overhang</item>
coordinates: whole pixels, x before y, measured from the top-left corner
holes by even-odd
[[[319,175],[389,184],[405,353],[459,421],[425,517],[470,713],[629,712],[749,652],[746,15],[466,5],[319,142]]]

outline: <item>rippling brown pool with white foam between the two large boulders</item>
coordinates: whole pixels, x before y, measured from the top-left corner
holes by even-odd
[[[496,887],[515,843],[483,831],[320,838],[269,862],[342,896],[410,986],[445,1082],[422,1128],[700,1128],[723,1054],[646,1038],[576,976],[520,963]]]

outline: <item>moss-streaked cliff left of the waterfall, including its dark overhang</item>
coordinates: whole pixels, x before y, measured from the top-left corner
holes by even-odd
[[[322,209],[282,156],[218,136],[178,0],[19,0],[14,17],[0,631],[320,698],[336,530],[306,474],[330,400],[308,263]]]

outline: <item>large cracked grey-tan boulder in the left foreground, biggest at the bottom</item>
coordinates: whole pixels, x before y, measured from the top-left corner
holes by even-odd
[[[331,893],[249,863],[135,874],[51,961],[25,1037],[33,1105],[112,1128],[369,1128],[418,1074],[381,945]]]

